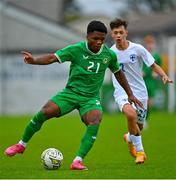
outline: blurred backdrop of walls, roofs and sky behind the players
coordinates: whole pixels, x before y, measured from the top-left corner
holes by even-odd
[[[0,115],[34,113],[66,84],[69,63],[26,65],[22,50],[34,56],[53,53],[84,40],[91,20],[109,27],[115,17],[129,22],[129,40],[145,46],[145,37],[153,37],[160,65],[175,80],[176,0],[1,0]],[[109,35],[106,43],[113,43]],[[152,108],[174,112],[175,82],[163,86],[155,77],[155,85]],[[112,93],[107,72],[101,92],[106,112],[117,110]]]

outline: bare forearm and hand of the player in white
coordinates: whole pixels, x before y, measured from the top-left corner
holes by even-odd
[[[173,83],[173,81],[169,79],[167,74],[163,71],[163,69],[159,65],[157,65],[156,63],[153,63],[151,65],[151,68],[156,74],[158,74],[160,77],[162,77],[162,81],[164,84]]]

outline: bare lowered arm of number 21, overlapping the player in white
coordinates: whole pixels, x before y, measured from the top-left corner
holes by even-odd
[[[133,92],[128,84],[128,81],[122,72],[122,70],[119,70],[114,73],[114,76],[116,80],[119,82],[119,84],[123,87],[123,89],[126,91],[128,95],[128,100],[130,103],[134,103],[135,105],[139,105],[143,108],[143,104],[133,95]]]

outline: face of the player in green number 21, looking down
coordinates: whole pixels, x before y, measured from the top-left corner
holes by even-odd
[[[88,48],[94,53],[97,53],[102,44],[104,44],[106,34],[103,32],[92,32],[87,35]]]

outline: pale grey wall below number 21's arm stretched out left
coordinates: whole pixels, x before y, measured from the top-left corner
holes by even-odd
[[[22,56],[0,58],[0,114],[29,114],[38,111],[65,87],[69,63],[28,65]]]

